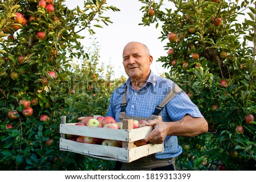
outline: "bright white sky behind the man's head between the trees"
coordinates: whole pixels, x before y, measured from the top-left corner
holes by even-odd
[[[83,2],[82,0],[66,0],[65,4],[72,9],[76,6],[82,7]],[[158,75],[164,73],[166,69],[162,67],[162,63],[156,62],[160,56],[167,54],[163,48],[166,43],[158,39],[161,36],[161,27],[156,29],[154,25],[146,27],[138,25],[141,23],[143,15],[139,9],[144,4],[138,0],[107,0],[107,4],[117,7],[120,11],[106,11],[103,16],[109,16],[113,23],[110,23],[109,26],[102,24],[104,28],[95,27],[93,29],[96,32],[93,37],[100,45],[100,62],[112,65],[115,78],[121,77],[121,75],[126,77],[122,65],[123,47],[130,41],[139,41],[148,46],[153,56],[151,70]],[[87,32],[83,33],[87,35]],[[80,35],[85,36],[83,33]],[[87,38],[89,37],[87,36]],[[81,43],[88,47],[89,40],[85,38]]]

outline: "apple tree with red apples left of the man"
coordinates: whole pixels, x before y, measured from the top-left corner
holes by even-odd
[[[64,2],[0,1],[1,170],[85,170],[93,163],[59,151],[60,116],[73,99],[65,83],[72,82],[72,60],[89,60],[81,32],[112,23],[104,12],[118,9],[104,0],[75,9]],[[90,170],[101,165],[94,163]]]

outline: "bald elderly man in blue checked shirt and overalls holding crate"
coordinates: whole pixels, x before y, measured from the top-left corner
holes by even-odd
[[[175,157],[182,153],[177,136],[193,137],[208,130],[187,94],[173,81],[152,73],[152,61],[146,45],[131,42],[125,46],[123,66],[129,78],[113,92],[106,116],[117,121],[147,120],[154,130],[142,142],[164,143],[164,151],[131,163],[117,162],[115,170],[175,170]]]

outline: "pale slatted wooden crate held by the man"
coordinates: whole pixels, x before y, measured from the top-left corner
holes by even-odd
[[[133,127],[133,120],[125,120],[122,122],[123,129],[97,128],[77,126],[75,123],[66,124],[65,116],[62,116],[60,124],[60,150],[93,156],[95,158],[119,160],[121,162],[132,162],[143,156],[163,151],[163,144],[149,143],[143,146],[132,147],[134,141],[146,137],[153,128],[152,126],[144,126],[142,128],[129,129]],[[122,141],[123,146],[113,147],[80,143],[65,139],[65,134],[118,140]]]

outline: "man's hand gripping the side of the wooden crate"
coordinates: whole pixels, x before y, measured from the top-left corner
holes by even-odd
[[[160,120],[148,120],[145,122],[146,126],[153,126],[154,129],[150,132],[142,142],[151,142],[155,144],[160,144],[164,142],[164,139],[168,135],[168,123]]]

